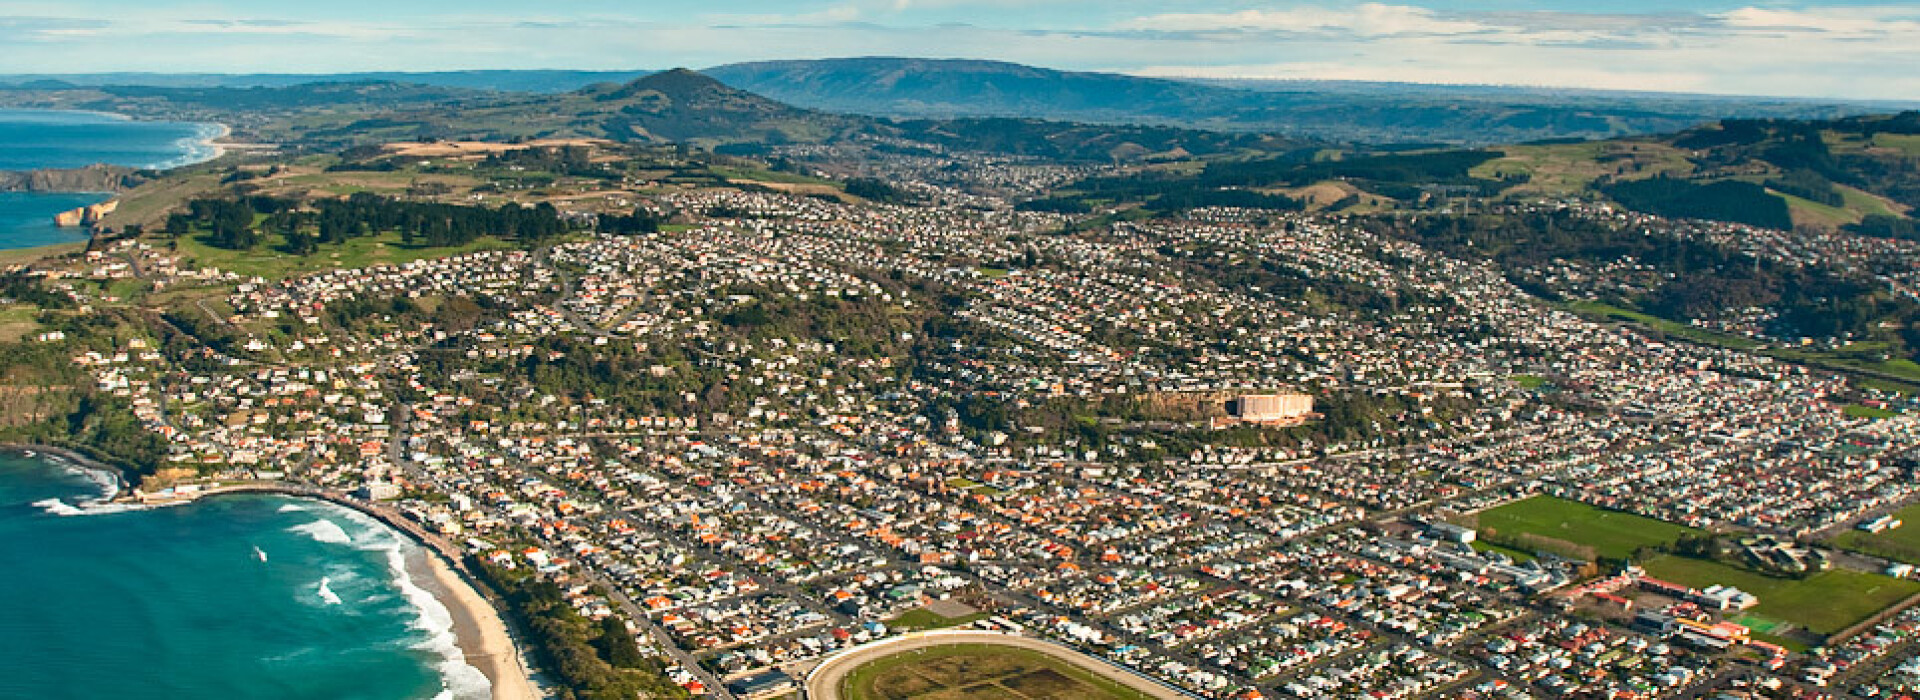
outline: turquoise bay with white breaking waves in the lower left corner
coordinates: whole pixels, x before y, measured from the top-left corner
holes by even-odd
[[[413,541],[328,502],[121,510],[0,453],[0,698],[484,698]]]

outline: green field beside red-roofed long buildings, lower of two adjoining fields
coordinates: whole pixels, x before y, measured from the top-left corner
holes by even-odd
[[[1661,556],[1642,564],[1659,579],[1695,589],[1732,585],[1761,598],[1753,616],[1788,621],[1818,635],[1847,629],[1920,593],[1920,581],[1901,581],[1853,570],[1820,572],[1807,579],[1778,579],[1720,562]]]

